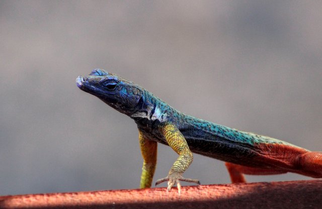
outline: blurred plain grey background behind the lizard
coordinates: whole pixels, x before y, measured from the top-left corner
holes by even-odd
[[[186,114],[322,150],[321,10],[321,1],[1,1],[0,195],[138,187],[135,123],[76,87],[94,68]],[[158,146],[153,184],[176,158]],[[230,182],[222,162],[198,155],[184,176]]]

